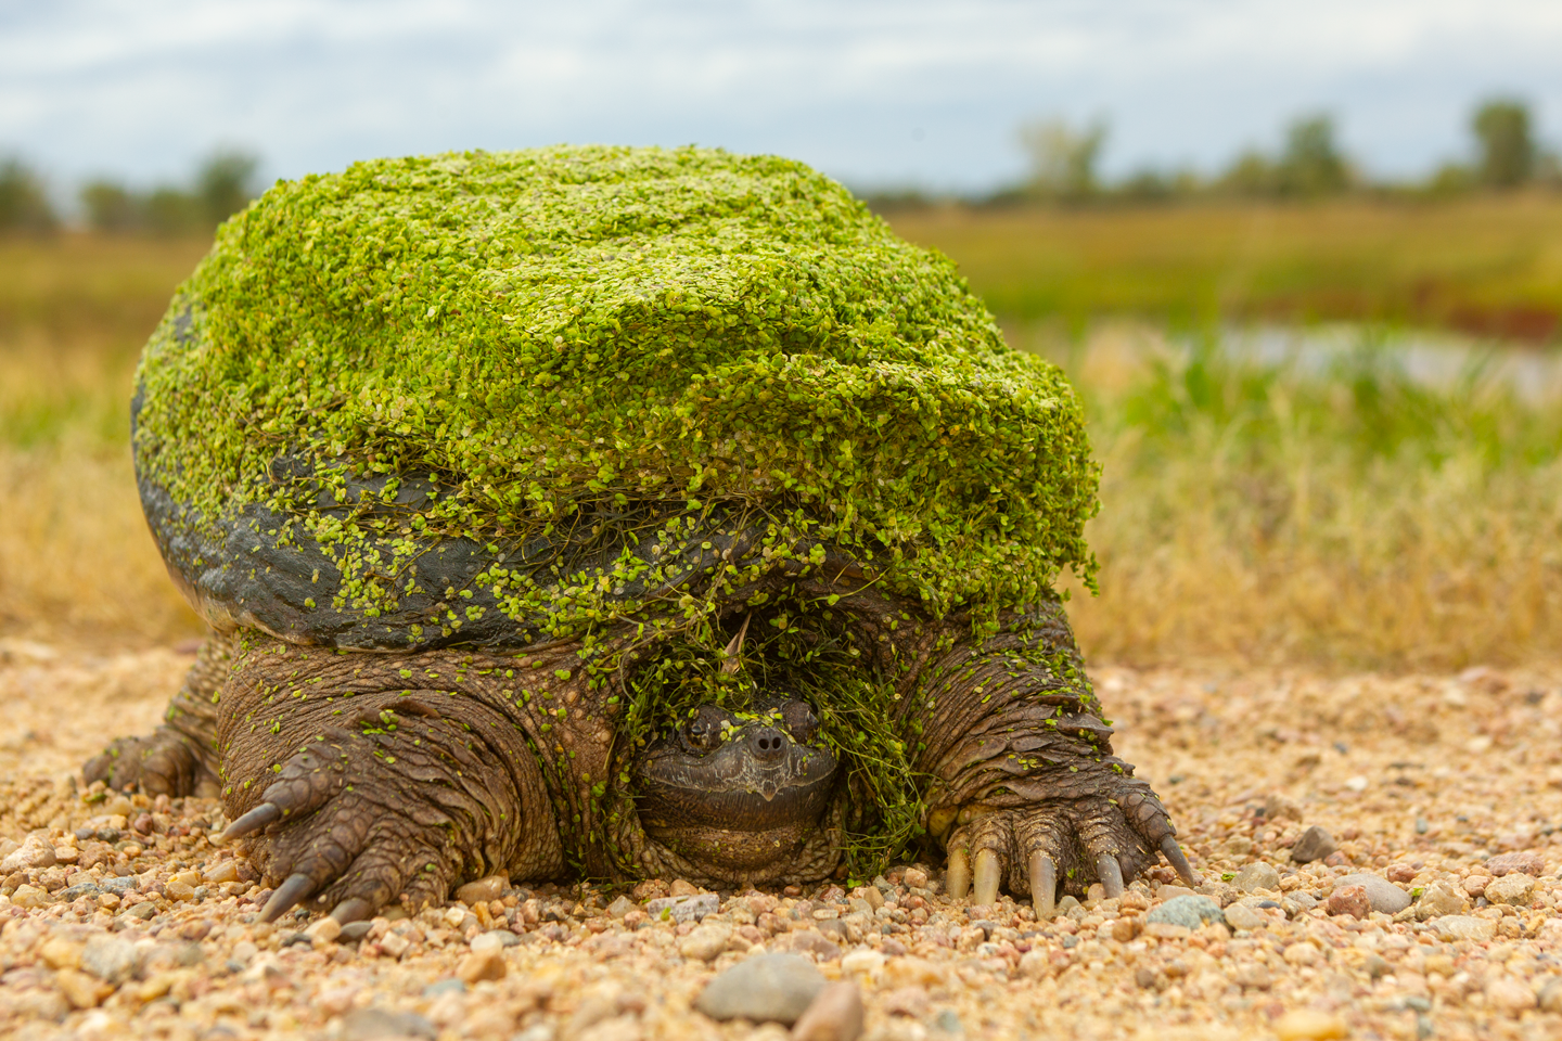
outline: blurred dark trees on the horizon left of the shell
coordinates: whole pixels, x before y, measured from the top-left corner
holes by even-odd
[[[258,195],[259,159],[247,151],[216,151],[187,186],[136,190],[97,178],[78,192],[81,219],[94,231],[114,234],[195,236],[211,231]],[[61,226],[48,183],[20,158],[0,161],[0,231],[47,234]]]

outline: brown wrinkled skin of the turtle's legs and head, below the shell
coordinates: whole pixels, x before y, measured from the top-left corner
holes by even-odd
[[[925,822],[947,851],[951,896],[989,904],[1003,888],[1047,913],[1059,891],[1097,880],[1120,893],[1159,852],[1193,880],[1159,799],[1112,755],[1059,602],[1007,612],[976,641],[968,618],[928,618],[848,571],[770,581],[790,596],[839,595],[839,624],[876,657],[865,666],[897,677],[901,732],[920,727],[914,766],[931,777]],[[723,621],[736,629],[747,612]],[[590,690],[578,649],[344,652],[217,634],[169,721],[116,741],[86,776],[170,796],[220,790],[226,838],[278,886],[266,918],[297,902],[362,918],[500,869],[778,885],[842,868],[845,787],[809,744],[808,705],[778,699],[769,721],[715,751],[686,724],[642,752],[620,790],[623,699],[611,699],[622,677]],[[708,805],[690,796],[701,787]],[[775,807],[753,801],[756,787]]]

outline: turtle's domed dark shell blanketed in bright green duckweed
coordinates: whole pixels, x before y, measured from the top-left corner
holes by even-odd
[[[1009,350],[950,261],[773,156],[280,181],[178,289],[133,415],[192,602],[303,643],[697,618],[826,546],[934,610],[1093,571],[1098,473],[1059,370]]]

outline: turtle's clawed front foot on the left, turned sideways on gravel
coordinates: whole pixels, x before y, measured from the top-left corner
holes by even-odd
[[[508,765],[530,752],[508,721],[456,698],[375,698],[347,726],[311,726],[312,707],[275,734],[234,727],[223,749],[223,802],[241,813],[219,841],[247,840],[276,886],[262,921],[300,904],[342,922],[397,897],[439,904],[511,865],[523,829]]]

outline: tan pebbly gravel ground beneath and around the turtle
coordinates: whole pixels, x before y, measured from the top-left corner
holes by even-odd
[[[1120,751],[1206,876],[1196,897],[1162,869],[1037,922],[1028,902],[947,901],[931,865],[703,901],[495,877],[334,935],[255,922],[267,891],[209,844],[214,802],[81,787],[189,660],[0,641],[6,1036],[779,1041],[694,1010],[762,950],[856,985],[883,1041],[1562,1036],[1562,668],[1098,670]],[[1309,847],[1325,860],[1295,863]],[[669,896],[687,921],[648,907]],[[825,994],[814,1038],[854,1000]]]

